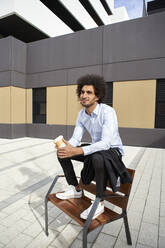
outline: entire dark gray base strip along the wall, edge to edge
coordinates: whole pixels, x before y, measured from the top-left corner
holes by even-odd
[[[46,124],[0,124],[0,138],[36,137],[54,139],[63,135],[70,139],[74,126]],[[123,145],[165,148],[165,129],[119,128]],[[91,142],[85,133],[83,142]]]

